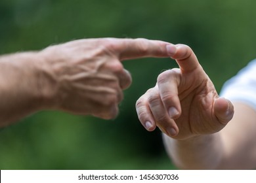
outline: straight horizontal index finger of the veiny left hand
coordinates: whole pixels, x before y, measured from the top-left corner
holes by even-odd
[[[169,42],[149,39],[111,39],[112,51],[117,54],[120,60],[136,58],[167,58],[166,46]]]

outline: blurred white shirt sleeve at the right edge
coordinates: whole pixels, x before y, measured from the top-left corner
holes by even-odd
[[[230,101],[240,101],[256,110],[256,59],[226,81],[220,93]]]

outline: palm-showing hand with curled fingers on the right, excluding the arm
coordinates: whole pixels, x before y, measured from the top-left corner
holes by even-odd
[[[142,95],[137,114],[148,131],[158,126],[174,139],[215,133],[232,119],[234,108],[218,96],[194,52],[184,44],[167,46],[180,69],[158,76],[157,84]]]

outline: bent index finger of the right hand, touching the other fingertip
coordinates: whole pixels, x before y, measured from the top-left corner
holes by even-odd
[[[185,44],[169,44],[167,52],[171,58],[177,61],[182,73],[189,73],[200,66],[193,50]]]

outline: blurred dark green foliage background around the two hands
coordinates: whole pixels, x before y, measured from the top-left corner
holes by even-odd
[[[0,54],[92,37],[188,44],[218,91],[256,58],[254,0],[1,0]],[[160,130],[146,131],[135,103],[171,59],[125,61],[133,76],[115,120],[42,111],[0,131],[0,169],[176,169]],[[1,99],[0,99],[1,102]]]

